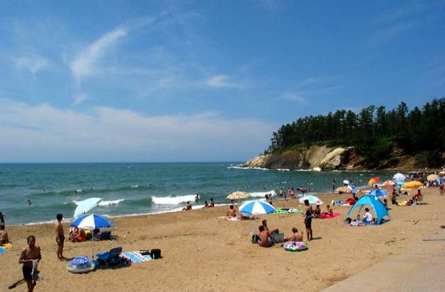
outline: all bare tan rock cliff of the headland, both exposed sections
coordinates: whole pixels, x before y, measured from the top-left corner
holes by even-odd
[[[260,155],[247,161],[244,167],[286,168],[291,170],[314,169],[321,170],[369,170],[366,161],[357,154],[354,147],[311,146],[288,150],[275,154]],[[405,155],[400,149],[395,149],[389,159],[379,161],[380,170],[414,170],[417,165],[412,156]]]

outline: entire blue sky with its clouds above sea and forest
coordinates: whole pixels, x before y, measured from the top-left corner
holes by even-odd
[[[1,1],[0,161],[245,161],[445,96],[445,1]]]

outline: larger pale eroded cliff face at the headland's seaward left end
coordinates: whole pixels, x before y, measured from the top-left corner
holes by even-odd
[[[353,147],[311,146],[279,154],[257,156],[243,166],[292,170],[313,168],[321,168],[321,170],[361,170],[363,169],[362,164],[363,159],[355,155]]]

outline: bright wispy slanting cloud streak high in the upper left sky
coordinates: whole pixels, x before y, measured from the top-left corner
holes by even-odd
[[[80,81],[83,76],[89,76],[96,73],[96,65],[106,49],[111,47],[120,38],[127,35],[127,30],[118,28],[105,33],[95,42],[92,42],[84,51],[81,52],[70,64],[72,74]]]

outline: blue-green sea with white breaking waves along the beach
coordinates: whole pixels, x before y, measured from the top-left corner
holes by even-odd
[[[389,179],[385,172],[318,172],[239,168],[238,163],[16,163],[0,164],[0,211],[6,225],[54,222],[57,213],[72,218],[79,202],[102,201],[92,212],[131,216],[179,211],[187,201],[202,208],[211,197],[228,204],[234,190],[265,192],[304,185],[310,193],[332,190],[343,179],[364,186],[371,177]],[[299,192],[297,191],[297,194]],[[200,200],[195,202],[195,195]],[[31,200],[31,204],[28,204]]]

